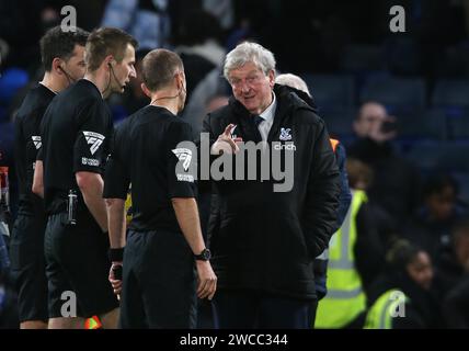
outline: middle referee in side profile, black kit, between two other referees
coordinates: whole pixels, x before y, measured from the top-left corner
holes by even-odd
[[[92,32],[85,46],[87,73],[57,95],[42,124],[49,328],[83,328],[101,318],[115,328],[118,302],[107,281],[111,263],[107,214],[102,197],[112,120],[104,98],[123,92],[135,77],[137,42],[117,29]],[[77,301],[78,318],[64,316],[64,293]]]

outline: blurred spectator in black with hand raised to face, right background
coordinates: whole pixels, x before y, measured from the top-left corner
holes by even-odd
[[[367,163],[375,173],[368,190],[370,200],[382,206],[396,223],[403,223],[415,208],[420,189],[419,173],[396,155],[391,140],[396,137],[394,117],[378,102],[364,103],[353,124],[357,140],[348,155]]]

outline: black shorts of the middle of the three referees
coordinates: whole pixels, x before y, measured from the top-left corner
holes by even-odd
[[[88,213],[79,213],[76,225],[66,220],[67,214],[60,213],[47,222],[44,248],[49,317],[67,317],[73,295],[78,317],[108,313],[118,307],[107,279],[108,237]]]

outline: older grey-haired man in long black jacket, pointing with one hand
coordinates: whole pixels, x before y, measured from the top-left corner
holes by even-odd
[[[270,160],[281,161],[293,184],[276,192],[277,180],[255,172],[265,149],[256,162],[243,162],[254,180],[214,180],[208,236],[219,282],[216,325],[310,328],[317,299],[312,262],[336,227],[340,193],[328,132],[313,109],[275,84],[274,55],[261,45],[238,45],[226,57],[224,75],[233,97],[204,120],[211,154],[233,154],[238,171],[237,158],[247,149],[239,143],[264,143],[267,154],[281,150],[268,154]]]

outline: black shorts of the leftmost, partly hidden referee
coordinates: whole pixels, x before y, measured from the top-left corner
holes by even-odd
[[[18,293],[20,321],[47,320],[47,279],[44,258],[46,217],[19,215],[10,240],[11,274]]]

